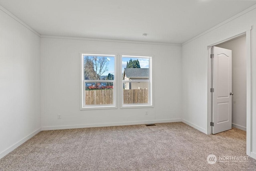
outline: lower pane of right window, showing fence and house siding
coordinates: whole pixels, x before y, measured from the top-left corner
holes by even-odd
[[[148,82],[123,83],[123,103],[136,104],[148,103]]]

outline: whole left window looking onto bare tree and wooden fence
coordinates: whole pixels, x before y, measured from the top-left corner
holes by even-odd
[[[81,56],[81,109],[116,108],[116,56],[106,54]]]

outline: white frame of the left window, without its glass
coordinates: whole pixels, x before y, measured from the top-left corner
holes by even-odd
[[[94,52],[80,52],[80,110],[92,110],[92,109],[117,109],[116,105],[116,62],[117,56],[114,53],[94,53]],[[106,57],[114,57],[114,80],[84,80],[84,55],[86,56],[106,56]],[[113,83],[113,104],[111,105],[85,105],[85,83],[95,83],[95,82],[112,82]]]

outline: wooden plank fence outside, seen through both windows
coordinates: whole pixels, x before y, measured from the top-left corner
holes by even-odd
[[[124,104],[148,103],[148,89],[123,89]],[[113,89],[85,91],[86,105],[113,104]]]

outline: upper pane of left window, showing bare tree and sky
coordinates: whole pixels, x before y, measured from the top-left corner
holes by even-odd
[[[84,80],[114,80],[114,56],[84,54]]]

